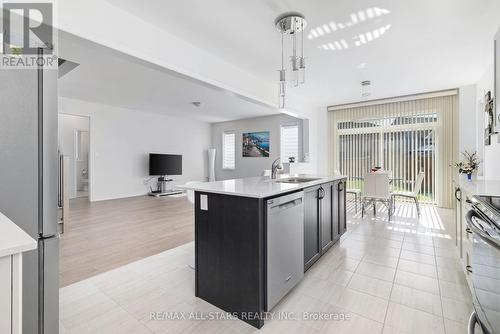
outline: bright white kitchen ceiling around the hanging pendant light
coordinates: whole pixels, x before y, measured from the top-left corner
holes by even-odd
[[[291,88],[289,95],[313,106],[360,100],[363,80],[372,81],[370,98],[475,83],[492,62],[492,39],[500,25],[498,0],[108,2],[270,82],[277,81],[280,64],[280,36],[273,24],[278,15],[303,13],[308,34],[332,21],[345,24],[305,41],[307,84]],[[375,7],[388,13],[347,27],[351,13]],[[378,39],[355,46],[355,36],[381,27],[386,31]],[[348,49],[319,48],[342,39]]]

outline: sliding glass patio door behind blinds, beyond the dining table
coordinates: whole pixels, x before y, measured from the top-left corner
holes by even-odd
[[[391,172],[392,189],[411,192],[424,173],[420,197],[435,202],[436,113],[371,117],[337,123],[338,166],[350,188],[362,188],[373,167]]]

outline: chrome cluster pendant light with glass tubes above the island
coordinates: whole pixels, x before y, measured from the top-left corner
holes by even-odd
[[[285,35],[290,35],[292,38],[292,81],[294,86],[304,84],[306,81],[306,58],[304,57],[304,29],[306,27],[306,20],[302,14],[287,13],[279,16],[274,24],[281,33],[281,69],[279,70],[279,108],[285,108],[286,97],[286,69],[285,69]],[[300,33],[300,56],[297,55],[297,34]],[[324,32],[318,29],[318,33],[323,35]]]

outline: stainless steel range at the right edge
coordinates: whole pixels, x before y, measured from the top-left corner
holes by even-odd
[[[467,213],[472,233],[471,265],[474,312],[469,333],[479,324],[485,334],[500,334],[500,197],[474,196]]]

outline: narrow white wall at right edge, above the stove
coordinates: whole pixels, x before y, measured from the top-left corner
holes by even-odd
[[[494,75],[493,64],[491,64],[477,83],[477,131],[478,131],[478,151],[484,150],[483,168],[486,180],[500,180],[500,143],[499,135],[491,137],[491,145],[484,146],[484,129],[486,128],[486,113],[480,107],[479,100],[491,91],[493,94]],[[481,147],[482,146],[482,147]],[[484,147],[484,148],[483,148]]]

